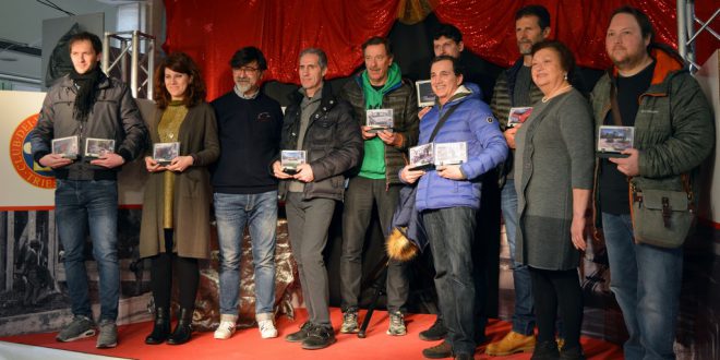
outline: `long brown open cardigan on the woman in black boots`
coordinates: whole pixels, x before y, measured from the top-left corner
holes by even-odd
[[[147,129],[153,144],[159,142],[157,125],[163,110],[156,109]],[[209,205],[212,189],[207,166],[220,154],[217,140],[215,112],[207,103],[188,110],[178,134],[180,155],[192,155],[194,164],[176,173],[173,203],[173,252],[179,256],[209,257]],[[152,149],[152,146],[151,146]],[[140,229],[140,256],[147,257],[165,252],[163,229],[163,172],[151,173],[145,183],[143,223]]]

